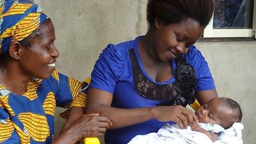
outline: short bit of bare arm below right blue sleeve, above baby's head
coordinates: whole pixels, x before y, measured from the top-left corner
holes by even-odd
[[[211,90],[203,90],[203,91],[197,91],[196,92],[196,99],[200,103],[200,105],[205,104],[212,98],[217,98],[218,94],[216,89],[211,89]]]

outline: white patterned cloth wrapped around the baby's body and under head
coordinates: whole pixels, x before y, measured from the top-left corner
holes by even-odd
[[[242,144],[242,129],[243,124],[241,123],[234,123],[230,128],[224,130],[219,127],[219,125],[212,125],[212,124],[202,124],[200,123],[201,127],[207,129],[209,131],[221,131],[220,136],[218,137],[217,141],[212,142],[209,137],[201,132],[191,131],[191,128],[188,126],[187,129],[179,129],[177,124],[164,125],[158,132],[152,132],[147,135],[137,135],[129,142],[129,144],[161,144],[161,143],[193,143],[193,144],[200,144],[200,143],[227,143],[233,144],[238,143]]]

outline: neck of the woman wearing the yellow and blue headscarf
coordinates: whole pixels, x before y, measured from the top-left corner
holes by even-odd
[[[15,94],[24,94],[31,77],[19,70],[16,63],[8,63],[0,66],[0,82]]]

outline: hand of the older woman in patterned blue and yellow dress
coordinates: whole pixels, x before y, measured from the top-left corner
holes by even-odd
[[[68,136],[72,139],[72,142],[82,140],[85,137],[99,137],[102,136],[112,124],[111,120],[99,114],[82,115],[63,131],[62,135],[64,136],[62,137]]]

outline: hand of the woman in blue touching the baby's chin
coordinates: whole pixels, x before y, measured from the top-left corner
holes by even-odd
[[[154,106],[152,108],[154,118],[159,121],[174,121],[180,129],[186,129],[193,121],[198,121],[193,111],[181,105]]]

